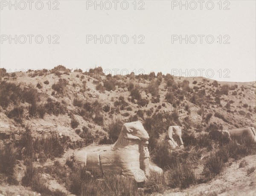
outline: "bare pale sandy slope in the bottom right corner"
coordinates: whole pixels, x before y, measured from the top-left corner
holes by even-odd
[[[242,160],[248,165],[239,168]],[[208,183],[193,185],[183,190],[166,190],[166,196],[255,196],[256,195],[256,171],[247,175],[247,169],[256,166],[256,156],[250,155],[232,162],[222,172]]]

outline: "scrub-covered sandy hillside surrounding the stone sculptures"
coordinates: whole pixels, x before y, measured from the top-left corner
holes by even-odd
[[[250,182],[246,193],[256,193],[255,145],[232,140],[225,146],[212,138],[207,145],[198,144],[199,137],[204,140],[214,130],[256,128],[256,82],[219,82],[154,72],[111,76],[104,75],[101,67],[83,72],[62,65],[13,74],[1,69],[0,76],[0,193],[4,196],[129,195],[128,190],[118,192],[117,185],[107,193],[89,188],[69,157],[87,145],[113,143],[124,122],[137,120],[150,136],[151,161],[166,171],[164,178],[178,178],[179,182],[162,182],[159,176],[145,185],[131,182],[130,189],[135,187],[131,195],[233,195],[237,192],[229,186],[242,189],[245,181]],[[163,147],[157,141],[171,125],[182,127],[185,150],[169,152],[161,160]],[[239,166],[242,161],[244,165]],[[167,168],[175,164],[176,169],[202,172],[203,178],[173,176]],[[29,171],[40,171],[41,178],[26,178]],[[220,177],[227,171],[232,180]],[[96,188],[107,182],[93,183]],[[122,179],[120,183],[124,183]],[[209,190],[209,183],[215,190]],[[220,187],[226,188],[219,191]]]

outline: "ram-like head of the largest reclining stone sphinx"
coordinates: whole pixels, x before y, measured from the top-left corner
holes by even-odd
[[[143,141],[148,141],[149,136],[148,132],[143,127],[143,124],[140,121],[136,122],[126,122],[123,125],[122,133],[127,136],[128,139],[138,139]]]

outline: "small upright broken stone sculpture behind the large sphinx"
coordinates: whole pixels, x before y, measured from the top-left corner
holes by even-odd
[[[164,140],[172,150],[183,149],[184,146],[181,136],[182,131],[180,126],[169,126]]]

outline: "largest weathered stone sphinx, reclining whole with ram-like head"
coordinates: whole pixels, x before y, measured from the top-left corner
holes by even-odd
[[[113,145],[85,147],[74,153],[74,159],[102,175],[118,173],[144,182],[151,171],[163,172],[149,162],[148,139],[141,122],[128,122]]]

